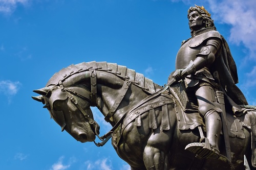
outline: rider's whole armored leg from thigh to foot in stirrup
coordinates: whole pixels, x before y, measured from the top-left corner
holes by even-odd
[[[202,86],[196,91],[198,99],[198,111],[205,120],[206,138],[202,143],[190,143],[186,146],[199,158],[218,159],[219,136],[221,131],[220,105],[216,103],[215,91],[211,86]]]

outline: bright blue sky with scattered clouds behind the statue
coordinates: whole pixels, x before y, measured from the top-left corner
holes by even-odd
[[[31,99],[63,67],[125,65],[163,85],[190,37],[187,9],[203,5],[226,38],[239,84],[256,105],[256,1],[0,0],[0,169],[129,169],[110,142],[80,143]],[[111,129],[92,108],[101,134]]]

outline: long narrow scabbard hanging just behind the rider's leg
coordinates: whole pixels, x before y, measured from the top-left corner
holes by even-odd
[[[226,156],[231,163],[231,150],[230,150],[230,142],[229,142],[229,135],[228,135],[228,129],[227,129],[224,93],[223,91],[216,91],[216,95],[217,95],[218,103],[221,105],[221,110],[222,110],[221,120],[222,120],[222,130],[223,130],[225,148],[226,148]]]

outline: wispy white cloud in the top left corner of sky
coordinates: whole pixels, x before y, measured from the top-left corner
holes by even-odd
[[[27,5],[31,0],[0,0],[0,12],[11,14],[15,11],[18,4]]]

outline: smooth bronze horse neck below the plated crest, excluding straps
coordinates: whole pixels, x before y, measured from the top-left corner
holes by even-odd
[[[69,79],[66,79],[66,81],[63,82],[63,86],[79,86],[91,89],[91,81],[90,71],[84,71],[73,75]],[[124,85],[124,82],[125,81],[123,79],[112,74],[111,72],[96,70],[96,107],[104,116],[106,116],[113,107],[117,96]],[[145,93],[140,87],[131,83],[120,104],[118,104],[118,108],[113,114],[112,124],[115,124],[123,114],[125,114],[134,105],[145,99],[148,95],[149,94]]]

